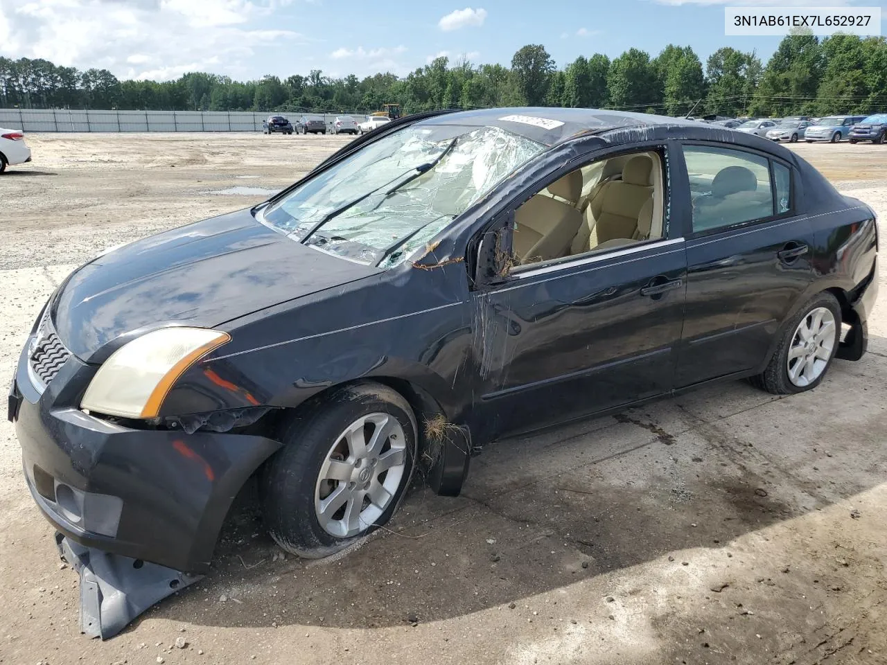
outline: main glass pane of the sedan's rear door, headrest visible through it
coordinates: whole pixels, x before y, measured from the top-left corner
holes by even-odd
[[[773,216],[770,162],[765,157],[729,148],[689,145],[684,147],[684,158],[693,202],[693,231]]]

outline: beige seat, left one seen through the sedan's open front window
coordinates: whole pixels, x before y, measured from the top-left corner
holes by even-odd
[[[536,194],[514,213],[514,254],[518,262],[549,261],[567,254],[569,243],[582,224],[576,207],[582,196],[582,172],[570,171],[548,185],[548,192]]]

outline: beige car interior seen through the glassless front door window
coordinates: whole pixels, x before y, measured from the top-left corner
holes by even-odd
[[[570,171],[515,211],[515,267],[662,238],[663,182],[652,151]]]

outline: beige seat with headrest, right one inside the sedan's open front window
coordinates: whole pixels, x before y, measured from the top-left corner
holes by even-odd
[[[635,238],[640,208],[653,199],[652,170],[653,160],[649,155],[635,155],[625,162],[622,180],[611,180],[603,186],[589,206],[590,239],[585,251],[608,240]],[[597,242],[592,244],[594,239]]]

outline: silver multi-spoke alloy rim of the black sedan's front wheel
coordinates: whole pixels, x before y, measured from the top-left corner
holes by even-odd
[[[321,528],[357,536],[389,508],[406,470],[406,437],[389,413],[370,413],[338,436],[320,467],[314,511]]]

